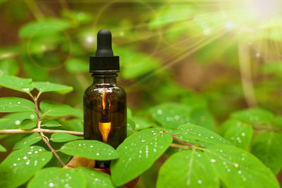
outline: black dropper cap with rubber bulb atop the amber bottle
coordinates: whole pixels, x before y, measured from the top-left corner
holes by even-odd
[[[107,29],[97,33],[97,51],[90,56],[90,73],[119,73],[119,56],[114,56],[111,32]]]

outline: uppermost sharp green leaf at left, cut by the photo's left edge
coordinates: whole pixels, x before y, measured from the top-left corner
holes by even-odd
[[[9,89],[14,89],[19,92],[30,93],[34,87],[31,84],[32,80],[15,76],[0,76],[0,85]]]

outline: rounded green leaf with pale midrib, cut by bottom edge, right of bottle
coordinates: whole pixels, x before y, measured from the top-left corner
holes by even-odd
[[[206,153],[185,150],[174,153],[161,166],[158,187],[219,187],[219,180]]]

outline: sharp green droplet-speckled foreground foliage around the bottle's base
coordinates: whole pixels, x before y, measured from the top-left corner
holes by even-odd
[[[8,79],[2,77],[4,78]],[[25,137],[16,142],[14,151],[1,163],[2,187],[17,187],[26,182],[27,187],[91,187],[98,184],[100,187],[121,186],[142,175],[162,155],[167,160],[159,171],[157,187],[279,187],[273,173],[278,173],[282,167],[280,153],[274,152],[278,152],[275,148],[281,144],[281,133],[272,132],[272,123],[274,120],[277,122],[277,118],[269,111],[253,108],[233,113],[221,128],[223,138],[209,130],[213,129],[212,126],[207,127],[205,123],[192,124],[195,119],[191,112],[194,108],[199,109],[197,106],[161,104],[151,109],[152,118],[158,125],[147,122],[148,125],[157,127],[143,126],[146,121],[142,126],[133,126],[134,120],[129,119],[128,130],[131,132],[115,150],[102,142],[81,140],[63,130],[54,132],[49,138],[45,136],[45,127],[50,128],[49,131],[56,131],[59,119],[74,115],[72,112],[75,109],[52,101],[39,102],[39,96],[43,92],[71,92],[72,88],[49,82],[37,84],[29,80],[28,84],[34,85],[38,90],[38,94],[33,96],[31,91],[18,89],[25,79],[13,78],[16,78],[13,80],[13,89],[30,95],[33,102],[13,97],[0,98],[1,112],[35,112],[37,118],[30,119],[26,116],[26,119],[16,123],[20,125],[20,130],[30,133],[25,132]],[[18,118],[6,116],[14,118],[13,120]],[[54,117],[59,119],[54,120]],[[201,116],[200,120],[202,117],[206,116]],[[5,117],[1,120],[7,121]],[[62,124],[61,128],[63,127]],[[38,129],[39,132],[33,132]],[[252,142],[252,153],[264,164],[248,152],[252,133],[257,129],[264,132]],[[48,146],[43,145],[46,149],[40,144],[42,140]],[[172,143],[173,140],[178,144]],[[50,144],[54,145],[56,151]],[[169,146],[179,150],[171,155],[168,152]],[[2,147],[1,151],[5,149]],[[61,153],[97,161],[112,160],[111,176],[87,168],[67,168],[63,161],[54,163],[50,161],[52,152],[60,152],[59,156],[56,153],[59,160],[62,160]]]

